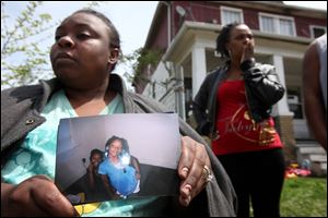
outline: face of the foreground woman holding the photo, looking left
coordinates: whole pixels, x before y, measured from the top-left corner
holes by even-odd
[[[113,58],[117,58],[113,56],[118,55],[109,49],[109,32],[101,19],[87,13],[73,14],[58,26],[50,60],[63,85],[83,89],[107,78]]]

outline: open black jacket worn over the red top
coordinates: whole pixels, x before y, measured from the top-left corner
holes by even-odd
[[[256,122],[270,117],[271,106],[278,102],[284,88],[279,82],[274,66],[256,63],[247,60],[241,65],[244,72],[246,99],[250,116]],[[209,73],[204,78],[192,102],[195,119],[198,123],[196,131],[201,135],[215,138],[216,92],[221,83],[226,78],[227,64]]]

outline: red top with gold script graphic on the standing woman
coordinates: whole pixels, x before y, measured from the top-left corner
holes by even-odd
[[[250,119],[243,80],[223,82],[218,88],[216,101],[219,135],[212,141],[215,155],[282,147],[272,118],[260,123]]]

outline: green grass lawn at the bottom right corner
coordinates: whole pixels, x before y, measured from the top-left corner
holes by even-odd
[[[327,217],[327,178],[285,179],[280,214],[282,217]]]

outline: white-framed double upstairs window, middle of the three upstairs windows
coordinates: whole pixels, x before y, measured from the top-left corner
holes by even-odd
[[[293,17],[259,13],[260,31],[285,36],[295,36]]]

